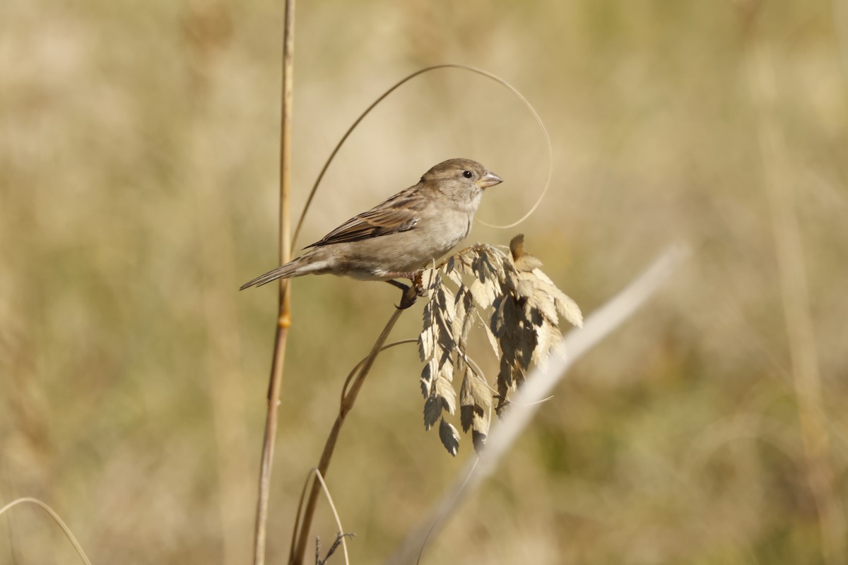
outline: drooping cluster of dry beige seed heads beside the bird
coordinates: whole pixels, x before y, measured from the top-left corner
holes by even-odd
[[[527,369],[532,364],[545,366],[551,349],[562,341],[560,318],[577,327],[583,324],[580,308],[539,269],[541,265],[524,252],[524,236],[516,235],[509,249],[478,243],[422,275],[430,298],[418,339],[421,361],[426,363],[421,371],[424,426],[430,429],[438,423],[439,439],[451,455],[459,450],[460,435],[443,414],[455,413],[455,376],[462,377],[460,424],[466,433],[471,429],[474,448],[480,451],[493,401],[495,413],[501,415],[510,392],[524,383]],[[488,341],[500,357],[494,396],[466,354],[468,335],[477,320],[483,321]]]

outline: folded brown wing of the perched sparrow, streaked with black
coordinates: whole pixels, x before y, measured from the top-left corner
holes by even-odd
[[[360,213],[325,235],[321,241],[307,247],[349,243],[411,230],[421,219],[421,210],[427,207],[427,200],[418,195],[416,188],[411,186],[371,210]]]

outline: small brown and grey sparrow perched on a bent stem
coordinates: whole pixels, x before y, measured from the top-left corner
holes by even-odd
[[[500,182],[471,159],[438,163],[417,185],[349,219],[300,257],[245,283],[242,290],[304,274],[412,279],[468,235],[483,189]]]

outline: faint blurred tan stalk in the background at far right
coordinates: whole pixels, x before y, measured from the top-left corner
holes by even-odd
[[[778,125],[773,58],[762,42],[750,42],[748,76],[757,114],[762,168],[789,335],[789,357],[798,402],[806,482],[815,501],[824,562],[845,563],[845,514],[834,489],[827,418],[809,307],[801,230],[795,211],[789,152]]]

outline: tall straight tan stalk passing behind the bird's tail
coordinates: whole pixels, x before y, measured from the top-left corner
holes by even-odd
[[[289,203],[292,163],[292,79],[294,57],[294,0],[286,0],[286,19],[282,46],[282,119],[280,124],[280,264],[292,258],[292,235],[289,224]],[[291,325],[291,296],[288,280],[280,280],[279,315],[268,384],[268,413],[265,418],[265,439],[262,443],[262,463],[259,469],[259,500],[256,504],[254,532],[254,565],[265,563],[265,538],[268,522],[268,494],[271,487],[271,468],[276,442],[277,407],[280,404],[282,368],[286,358],[288,328]]]

